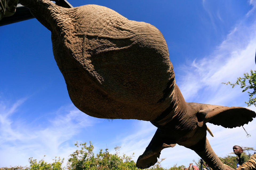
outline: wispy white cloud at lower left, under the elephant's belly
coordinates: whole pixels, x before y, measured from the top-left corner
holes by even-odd
[[[0,105],[0,167],[8,165],[27,165],[28,158],[42,159],[51,162],[55,156],[68,158],[75,147],[69,140],[81,133],[81,130],[93,126],[97,120],[85,116],[73,105],[61,107],[49,118],[45,126],[30,127],[28,122],[11,119],[10,115],[18,114],[17,108],[25,101],[21,99],[7,107]]]

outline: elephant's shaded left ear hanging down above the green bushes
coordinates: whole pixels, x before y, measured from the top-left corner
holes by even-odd
[[[174,140],[169,138],[169,136],[160,129],[157,129],[146,150],[139,156],[136,166],[141,169],[151,167],[157,163],[157,158],[159,158],[161,150],[167,147],[174,147],[175,145],[176,142]]]

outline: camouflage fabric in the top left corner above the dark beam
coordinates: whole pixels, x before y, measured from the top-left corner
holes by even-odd
[[[0,20],[15,13],[19,0],[0,0]]]

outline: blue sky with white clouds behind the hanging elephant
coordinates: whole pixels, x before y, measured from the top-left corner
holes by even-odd
[[[157,27],[165,37],[176,83],[187,102],[246,107],[247,93],[225,86],[255,70],[256,1],[82,1],[97,4],[130,20]],[[139,120],[98,119],[80,112],[69,99],[54,60],[50,31],[36,19],[0,27],[0,167],[28,165],[28,158],[68,158],[74,143],[92,141],[97,153],[106,147],[134,160],[143,153],[156,127]],[[250,107],[256,111],[255,107]],[[228,120],[227,120],[228,121]],[[239,120],[237,120],[239,121]],[[256,148],[256,121],[245,129],[207,124],[215,153],[234,145]],[[182,157],[182,159],[181,159]],[[162,165],[189,165],[199,156],[182,146],[165,149]]]

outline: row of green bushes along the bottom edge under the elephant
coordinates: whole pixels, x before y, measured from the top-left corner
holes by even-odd
[[[0,170],[141,170],[136,167],[136,163],[131,159],[132,156],[127,156],[125,154],[119,154],[120,147],[115,147],[115,154],[110,154],[108,149],[103,151],[100,149],[98,154],[93,152],[93,144],[89,142],[87,146],[86,143],[75,143],[77,150],[69,155],[67,166],[63,167],[64,158],[55,157],[53,163],[47,163],[45,160],[41,159],[37,161],[36,159],[29,158],[30,166],[22,167],[2,167]],[[183,170],[184,165],[177,166],[167,169],[163,168],[161,162],[164,159],[159,160],[155,165],[149,168],[149,170]]]

